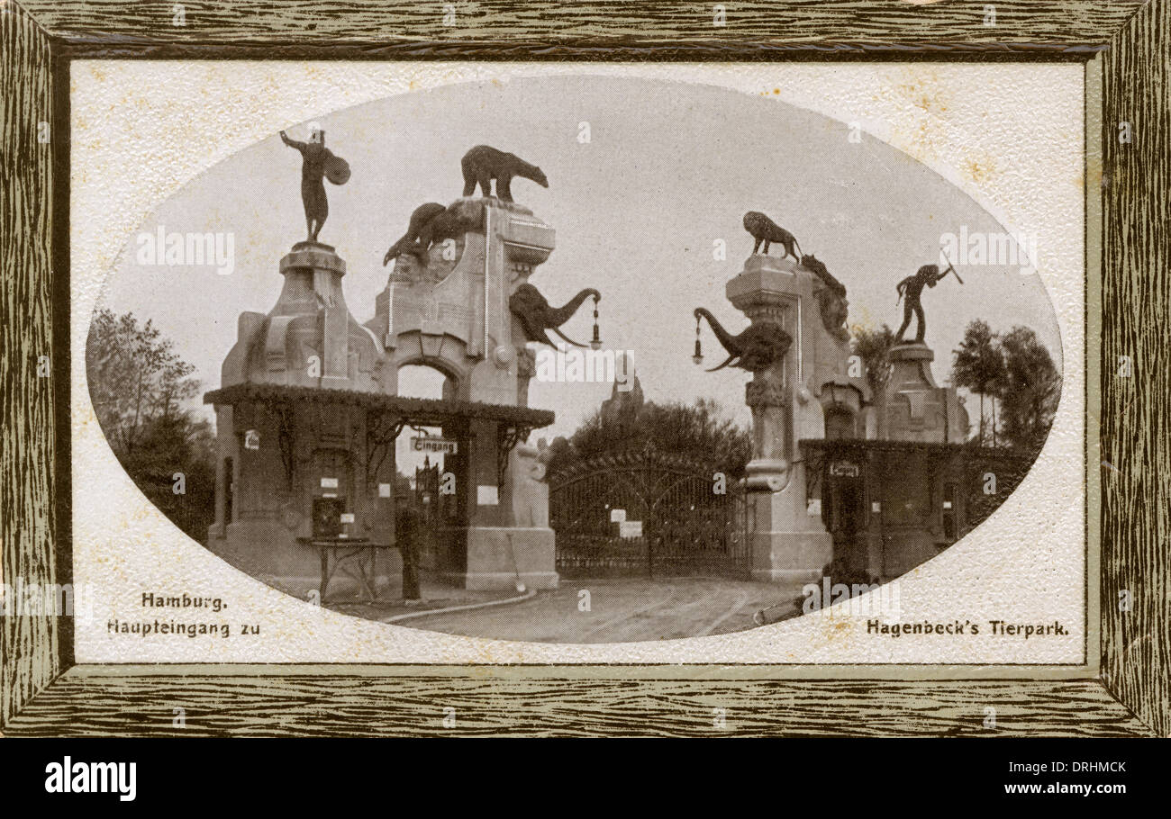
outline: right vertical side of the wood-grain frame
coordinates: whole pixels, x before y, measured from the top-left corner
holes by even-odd
[[[1102,670],[1171,736],[1171,0],[1152,0],[1111,43],[1103,131]]]

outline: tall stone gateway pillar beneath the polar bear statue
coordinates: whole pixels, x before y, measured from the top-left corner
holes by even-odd
[[[397,393],[399,367],[422,364],[447,376],[445,400],[528,407],[533,355],[514,326],[509,297],[549,257],[555,232],[527,207],[494,198],[452,202],[456,235],[424,254],[403,254],[365,326],[386,365],[381,388]],[[471,410],[470,410],[471,412]],[[460,441],[460,519],[441,526],[443,573],[465,589],[555,589],[554,532],[547,509],[518,517],[534,500],[522,426],[468,417]],[[520,449],[518,453],[515,449]],[[543,503],[547,505],[547,493]]]

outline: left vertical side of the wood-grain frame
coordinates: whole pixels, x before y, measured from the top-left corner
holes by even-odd
[[[56,579],[53,378],[37,372],[40,357],[54,352],[52,142],[40,142],[39,136],[52,140],[55,123],[48,36],[20,9],[6,8],[0,14],[0,41],[5,176],[0,200],[0,574],[11,612],[26,599],[26,590]],[[40,123],[50,130],[41,130]],[[39,611],[0,617],[0,725],[61,670],[60,618]]]

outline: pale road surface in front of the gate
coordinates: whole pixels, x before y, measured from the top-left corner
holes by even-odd
[[[467,592],[434,584],[424,585],[420,604],[403,601],[376,605],[330,603],[330,608],[384,620],[420,608],[466,605],[515,597],[515,591]],[[589,592],[589,611],[580,611],[582,591]],[[768,613],[774,622],[799,613],[788,604],[800,593],[782,586],[721,578],[598,578],[562,579],[561,587],[537,592],[520,603],[473,611],[437,613],[397,625],[504,640],[530,642],[632,642],[726,634],[753,628],[753,614]]]

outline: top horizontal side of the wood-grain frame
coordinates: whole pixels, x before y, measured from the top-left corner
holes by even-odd
[[[648,49],[672,47],[674,58],[746,58],[753,53],[982,47],[984,51],[1077,48],[1105,43],[1143,0],[999,0],[994,26],[985,25],[986,0],[744,0],[713,2],[566,2],[564,0],[453,0],[450,4],[322,0],[184,2],[183,25],[173,4],[139,0],[22,0],[54,37],[87,49],[165,43],[230,44],[238,51],[295,43],[304,49],[345,48],[347,56],[434,57],[447,48],[489,46],[482,58],[578,56],[648,58]],[[447,16],[445,6],[454,8]],[[590,49],[607,51],[590,55]],[[553,49],[549,51],[548,49]],[[499,51],[504,51],[502,54]],[[737,57],[737,54],[740,56]],[[142,56],[142,54],[138,54]],[[302,50],[301,56],[304,56]],[[664,58],[663,54],[658,58]]]

